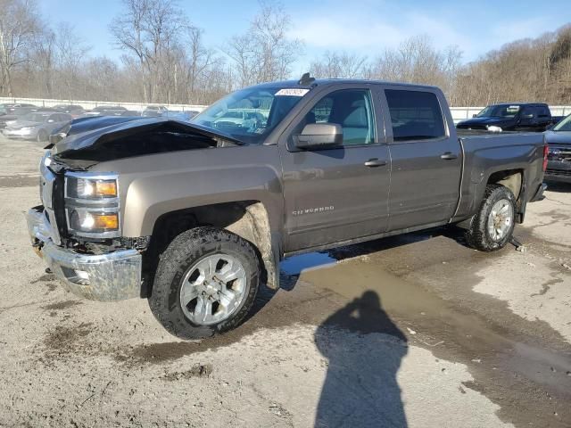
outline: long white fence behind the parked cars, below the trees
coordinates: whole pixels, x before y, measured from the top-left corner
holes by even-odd
[[[148,104],[145,103],[113,103],[108,101],[78,101],[78,100],[50,100],[44,98],[3,98],[0,97],[0,103],[29,103],[40,107],[53,107],[56,104],[78,104],[84,109],[93,109],[100,105],[120,105],[128,110],[143,111]],[[161,104],[172,111],[203,111],[205,105],[193,104]],[[451,107],[452,119],[454,123],[460,120],[470,119],[474,114],[482,111],[484,107]],[[571,106],[569,105],[550,105],[550,111],[553,116],[567,116],[571,114]]]

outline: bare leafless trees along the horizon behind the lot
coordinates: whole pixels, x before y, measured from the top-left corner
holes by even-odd
[[[209,46],[178,0],[121,0],[108,26],[120,61],[91,54],[68,23],[51,25],[36,0],[0,0],[0,95],[141,103],[208,104],[236,88],[296,78],[304,42],[288,37],[290,16],[261,0],[241,34]],[[459,46],[436,49],[413,36],[366,57],[325,52],[317,78],[374,78],[443,88],[451,105],[501,101],[571,103],[571,25],[464,63]]]

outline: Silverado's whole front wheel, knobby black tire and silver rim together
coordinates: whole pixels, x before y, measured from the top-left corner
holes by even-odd
[[[200,339],[239,325],[252,309],[260,263],[251,243],[214,227],[178,235],[161,255],[149,306],[181,339]]]

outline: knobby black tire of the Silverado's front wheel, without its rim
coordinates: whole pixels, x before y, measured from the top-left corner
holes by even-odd
[[[246,273],[247,290],[239,309],[216,325],[194,325],[180,306],[183,276],[197,260],[212,254],[228,254],[238,259]],[[260,287],[260,261],[251,243],[216,227],[195,227],[178,235],[161,254],[149,307],[154,317],[180,339],[202,339],[236,328],[252,309]]]

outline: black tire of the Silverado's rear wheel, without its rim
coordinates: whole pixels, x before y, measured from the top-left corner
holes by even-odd
[[[514,218],[512,218],[509,232],[503,236],[500,241],[494,241],[488,232],[487,222],[493,204],[505,199],[511,203]],[[501,250],[511,240],[514,232],[516,213],[516,198],[508,187],[504,185],[486,185],[484,200],[480,204],[476,215],[472,218],[470,226],[466,232],[466,241],[468,245],[479,251],[497,251]]]

